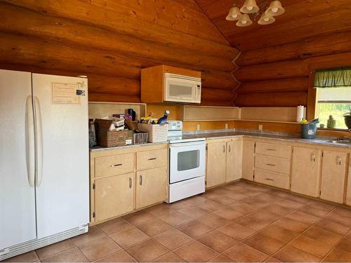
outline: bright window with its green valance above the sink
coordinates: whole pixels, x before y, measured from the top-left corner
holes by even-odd
[[[329,116],[334,128],[347,129],[343,115],[351,112],[351,69],[319,70],[314,76],[316,92],[315,117],[327,128]]]

